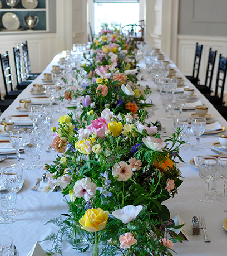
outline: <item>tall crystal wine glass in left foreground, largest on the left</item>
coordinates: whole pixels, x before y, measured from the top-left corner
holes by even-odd
[[[17,216],[24,214],[24,210],[16,209],[17,192],[21,190],[24,182],[23,168],[6,167],[2,171],[2,178],[7,191],[14,194],[14,204],[8,215]]]

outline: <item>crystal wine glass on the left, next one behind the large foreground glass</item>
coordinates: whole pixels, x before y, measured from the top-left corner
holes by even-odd
[[[17,166],[26,166],[23,163],[19,162],[19,158],[21,157],[20,149],[22,148],[25,142],[25,131],[16,129],[9,131],[9,142],[11,146],[17,151]]]

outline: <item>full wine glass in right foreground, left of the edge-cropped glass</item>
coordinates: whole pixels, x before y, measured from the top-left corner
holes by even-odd
[[[205,197],[198,197],[199,201],[203,202],[213,202],[215,201],[215,197],[211,197],[208,195],[209,191],[209,181],[213,180],[216,175],[216,157],[211,156],[203,156],[198,158],[198,172],[200,178],[203,178],[205,181]]]

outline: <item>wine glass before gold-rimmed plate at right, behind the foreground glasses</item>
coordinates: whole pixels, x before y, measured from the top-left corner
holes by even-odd
[[[194,134],[196,135],[196,146],[192,148],[193,151],[203,151],[204,148],[199,147],[199,139],[206,128],[206,118],[204,117],[193,117],[191,118],[191,129],[193,129]]]

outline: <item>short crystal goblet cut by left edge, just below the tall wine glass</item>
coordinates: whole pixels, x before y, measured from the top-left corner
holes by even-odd
[[[7,212],[7,207],[14,204],[14,201],[15,196],[13,193],[8,192],[7,190],[0,190],[0,206],[4,207],[3,216],[0,217],[0,224],[11,224],[16,221],[15,219],[9,217]]]

